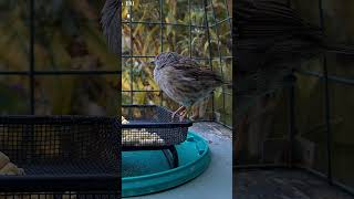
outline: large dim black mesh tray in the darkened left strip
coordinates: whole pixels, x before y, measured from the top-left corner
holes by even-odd
[[[0,175],[0,189],[117,190],[121,150],[114,122],[94,116],[1,116],[0,151],[11,160],[6,164],[23,170]]]

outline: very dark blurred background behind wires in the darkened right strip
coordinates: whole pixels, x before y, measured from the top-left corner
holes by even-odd
[[[354,1],[322,0],[324,32],[334,43],[354,44]],[[319,1],[291,0],[301,17],[320,25]],[[354,188],[354,59],[325,54],[329,71],[329,106],[325,105],[324,57],[303,63],[294,87],[295,164],[309,170],[329,174],[333,180]],[[250,112],[268,112],[247,125],[240,165],[281,165],[289,160],[289,90],[259,101]],[[325,113],[329,111],[329,119]],[[330,139],[327,133],[330,132]],[[327,144],[330,143],[329,148]],[[329,154],[330,153],[330,154]]]

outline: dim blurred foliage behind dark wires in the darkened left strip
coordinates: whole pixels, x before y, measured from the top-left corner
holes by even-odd
[[[103,4],[0,1],[0,114],[116,115],[121,62],[102,34]]]

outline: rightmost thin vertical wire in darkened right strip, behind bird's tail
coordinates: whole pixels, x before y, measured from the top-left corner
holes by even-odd
[[[323,19],[323,3],[319,0],[320,9],[320,25],[322,31],[324,31],[324,19]],[[327,180],[330,184],[333,182],[332,178],[332,132],[331,132],[331,113],[330,113],[330,94],[329,94],[329,72],[327,72],[327,61],[326,54],[323,54],[323,80],[324,80],[324,119],[326,126],[326,147],[327,147]]]

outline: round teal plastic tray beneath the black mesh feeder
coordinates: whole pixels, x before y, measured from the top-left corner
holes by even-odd
[[[133,197],[163,191],[183,185],[202,174],[209,166],[207,142],[188,133],[176,146],[179,167],[171,169],[162,150],[124,151],[122,154],[122,196]]]

